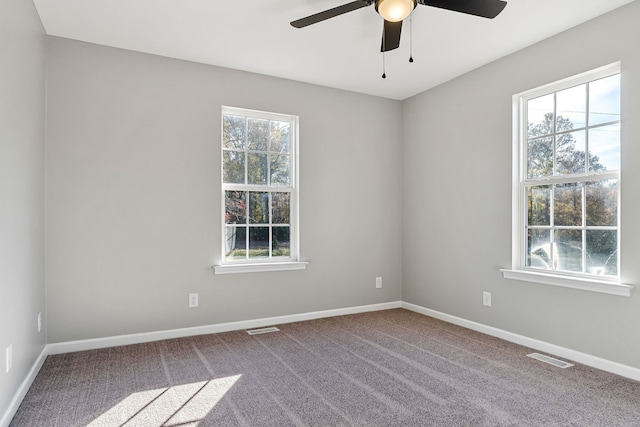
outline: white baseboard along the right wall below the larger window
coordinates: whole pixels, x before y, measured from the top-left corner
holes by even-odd
[[[640,381],[640,369],[638,368],[623,365],[617,362],[612,362],[607,359],[602,359],[600,357],[571,350],[569,348],[560,347],[555,344],[549,344],[547,342],[525,337],[523,335],[514,334],[512,332],[494,328],[492,326],[483,325],[482,323],[477,323],[460,317],[451,316],[446,313],[441,313],[439,311],[431,310],[429,308],[421,307],[415,304],[410,304],[408,302],[402,302],[402,308],[415,311],[416,313],[424,314],[429,317],[444,320],[445,322],[453,323],[454,325],[462,326],[467,329],[482,332],[483,334],[501,338],[505,341],[533,348],[538,351],[551,353],[552,355],[573,360],[574,362],[578,362],[586,366],[591,366],[592,368],[600,369],[602,371],[611,372],[613,374],[630,378],[632,380]]]

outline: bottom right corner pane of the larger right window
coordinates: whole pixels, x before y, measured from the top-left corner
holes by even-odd
[[[618,233],[615,230],[587,230],[587,272],[618,275]]]

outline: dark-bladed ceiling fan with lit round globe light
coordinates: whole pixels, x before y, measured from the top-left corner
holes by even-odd
[[[298,19],[291,22],[291,25],[295,28],[303,28],[372,4],[375,5],[376,12],[384,19],[380,51],[387,52],[400,46],[402,21],[411,14],[418,4],[484,18],[495,18],[502,12],[507,2],[502,0],[356,0]]]

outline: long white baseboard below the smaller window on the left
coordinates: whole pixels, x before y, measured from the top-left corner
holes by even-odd
[[[357,307],[337,308],[333,310],[313,311],[309,313],[291,314],[286,316],[266,317],[263,319],[243,320],[239,322],[218,323],[215,325],[196,326],[193,328],[171,329],[167,331],[146,332],[140,334],[119,335],[106,338],[95,338],[79,341],[68,341],[47,345],[48,354],[71,353],[74,351],[95,350],[98,348],[115,347],[120,345],[140,344],[151,341],[172,338],[190,337],[195,335],[216,334],[220,332],[238,331],[244,329],[263,328],[265,326],[281,325],[284,323],[301,322],[304,320],[322,319],[326,317],[344,316],[347,314],[365,313],[369,311],[400,308],[402,301],[381,304],[361,305]]]

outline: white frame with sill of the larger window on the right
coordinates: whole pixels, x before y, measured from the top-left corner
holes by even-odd
[[[544,85],[513,96],[513,169],[512,169],[512,265],[502,269],[503,277],[545,285],[600,292],[612,295],[631,296],[632,285],[620,282],[618,277],[595,276],[565,271],[541,270],[526,267],[525,225],[527,215],[527,195],[525,190],[527,124],[525,123],[527,101],[588,83],[601,78],[620,74],[620,63],[610,64],[569,77],[558,82]],[[601,173],[600,179],[615,178],[620,182],[620,173]],[[562,180],[560,178],[559,180]],[[550,182],[550,183],[555,183]],[[619,185],[621,188],[621,185]],[[620,193],[618,194],[620,200]],[[618,230],[620,230],[620,204],[618,204]],[[620,231],[618,232],[619,235]],[[618,239],[618,247],[620,241]],[[618,252],[619,253],[619,252]],[[620,274],[618,262],[618,275]]]

